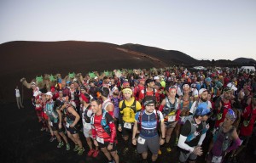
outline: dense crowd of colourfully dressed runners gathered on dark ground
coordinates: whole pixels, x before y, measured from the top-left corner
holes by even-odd
[[[49,141],[56,139],[59,149],[74,147],[77,155],[89,148],[85,155],[97,157],[102,151],[109,163],[119,163],[119,156],[131,150],[147,162],[150,151],[156,162],[163,150],[177,146],[179,162],[195,162],[203,152],[207,162],[236,162],[255,138],[254,72],[175,68],[58,82],[47,93],[32,82],[32,102],[41,131],[51,133]],[[123,149],[117,149],[117,132]],[[211,143],[203,151],[206,135]]]

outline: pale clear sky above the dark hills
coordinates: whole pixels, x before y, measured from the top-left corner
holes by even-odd
[[[0,44],[66,40],[256,59],[256,1],[1,0]]]

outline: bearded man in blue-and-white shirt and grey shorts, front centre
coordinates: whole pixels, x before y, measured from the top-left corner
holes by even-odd
[[[153,96],[144,98],[145,110],[137,112],[132,132],[132,143],[137,145],[137,153],[142,154],[143,163],[147,163],[148,149],[152,153],[152,162],[154,163],[158,157],[160,145],[165,143],[166,127],[162,113],[155,110],[155,99]],[[138,124],[140,125],[139,137],[136,138],[138,132]],[[160,126],[161,137],[158,135],[158,127]]]

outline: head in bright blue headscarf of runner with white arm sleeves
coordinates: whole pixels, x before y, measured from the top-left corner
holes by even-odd
[[[195,110],[195,118],[198,118],[201,121],[207,121],[210,115],[211,115],[211,110],[208,107],[207,103],[198,104]]]

